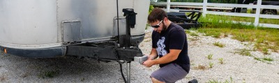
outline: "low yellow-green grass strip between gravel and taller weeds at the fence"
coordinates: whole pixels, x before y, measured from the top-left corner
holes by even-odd
[[[240,42],[255,42],[255,49],[265,51],[264,48],[271,49],[273,52],[279,52],[279,29],[276,28],[254,28],[252,26],[234,27],[218,27],[208,28],[211,24],[204,24],[202,28],[197,30],[199,33],[204,33],[205,36],[221,37],[221,34],[232,35],[232,39]],[[222,25],[222,24],[220,24]],[[236,24],[238,25],[238,24]],[[264,52],[266,54],[266,52]],[[267,53],[268,54],[268,53]]]

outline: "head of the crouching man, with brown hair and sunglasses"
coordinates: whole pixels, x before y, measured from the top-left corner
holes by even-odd
[[[167,21],[169,20],[167,19],[166,12],[160,8],[154,8],[148,17],[148,23],[158,33],[167,30],[167,26],[165,24]]]

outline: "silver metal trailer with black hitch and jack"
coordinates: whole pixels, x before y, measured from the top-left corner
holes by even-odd
[[[0,49],[29,58],[141,57],[149,0],[0,0]],[[130,64],[129,64],[130,65]]]

